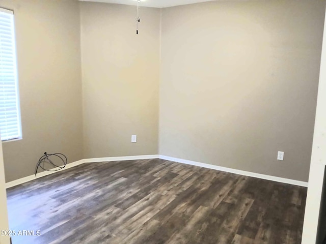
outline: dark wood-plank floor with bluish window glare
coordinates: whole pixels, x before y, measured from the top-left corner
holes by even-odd
[[[86,163],[7,194],[13,244],[299,244],[307,189],[153,159]]]

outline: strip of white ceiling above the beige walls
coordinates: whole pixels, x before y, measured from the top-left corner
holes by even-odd
[[[79,0],[84,2],[99,2],[111,4],[136,5],[137,0]],[[178,5],[210,2],[215,0],[141,0],[141,7],[167,8]]]

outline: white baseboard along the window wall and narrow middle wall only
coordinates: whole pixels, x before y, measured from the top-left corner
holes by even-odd
[[[158,158],[158,155],[140,155],[140,156],[126,156],[126,157],[107,157],[107,158],[82,159],[82,160],[78,160],[76,162],[67,164],[66,167],[64,167],[61,170],[69,169],[69,168],[72,168],[72,167],[75,167],[75,166],[77,166],[79,164],[84,164],[84,163],[126,161],[126,160],[140,160],[140,159],[157,159],[157,158]],[[17,186],[17,185],[20,185],[20,184],[23,184],[25,182],[28,182],[28,181],[31,181],[31,180],[34,180],[34,179],[41,178],[41,177],[49,175],[49,174],[56,173],[56,172],[59,172],[59,171],[43,171],[43,172],[37,173],[36,176],[33,174],[33,175],[30,175],[30,176],[26,176],[26,177],[23,177],[23,178],[20,178],[20,179],[16,179],[16,180],[7,182],[6,183],[6,189]]]

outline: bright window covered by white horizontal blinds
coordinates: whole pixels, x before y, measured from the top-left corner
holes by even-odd
[[[0,135],[21,138],[13,11],[0,8]]]

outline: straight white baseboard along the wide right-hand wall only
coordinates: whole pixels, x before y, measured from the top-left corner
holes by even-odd
[[[246,176],[260,178],[260,179],[268,179],[268,180],[282,182],[282,183],[291,184],[291,185],[295,185],[295,186],[308,187],[308,182],[305,182],[305,181],[281,178],[281,177],[276,177],[276,176],[271,176],[271,175],[266,175],[266,174],[258,174],[258,173],[253,173],[253,172],[249,172],[249,171],[231,169],[231,168],[221,167],[221,166],[212,165],[212,164],[199,163],[199,162],[195,162],[195,161],[191,161],[191,160],[177,159],[177,158],[164,156],[164,155],[159,155],[158,157],[159,157],[159,159],[169,160],[169,161],[178,162],[178,163],[182,163],[182,164],[189,164],[189,165],[199,166],[199,167],[203,167],[203,168],[215,169],[215,170],[220,170],[220,171],[225,171],[225,172],[240,174],[240,175],[246,175]]]

